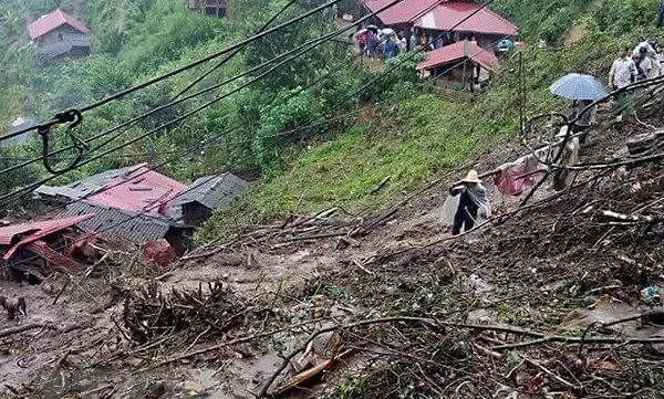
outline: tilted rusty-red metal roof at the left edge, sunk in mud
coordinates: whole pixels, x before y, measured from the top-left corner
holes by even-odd
[[[58,231],[69,229],[92,219],[93,217],[94,214],[80,213],[72,218],[21,223],[0,228],[0,245],[11,245],[11,249],[7,251],[3,259],[10,259],[22,245],[40,240]]]

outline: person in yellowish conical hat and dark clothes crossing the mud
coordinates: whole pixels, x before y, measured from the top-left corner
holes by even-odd
[[[459,206],[454,217],[452,234],[458,235],[475,227],[475,223],[490,217],[491,208],[487,192],[476,170],[468,175],[455,187],[449,189],[452,196],[460,196]]]

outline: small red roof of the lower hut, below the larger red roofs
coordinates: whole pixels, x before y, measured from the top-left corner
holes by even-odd
[[[424,61],[417,64],[417,69],[429,70],[464,59],[473,60],[489,71],[495,71],[499,64],[498,59],[491,50],[485,50],[477,45],[476,42],[465,40],[426,53]]]

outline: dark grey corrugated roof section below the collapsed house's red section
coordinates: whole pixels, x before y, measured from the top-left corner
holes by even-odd
[[[137,212],[108,208],[90,201],[77,201],[66,207],[63,217],[95,213],[79,227],[102,237],[118,237],[131,242],[144,243],[166,235],[174,223],[168,219],[143,216]]]

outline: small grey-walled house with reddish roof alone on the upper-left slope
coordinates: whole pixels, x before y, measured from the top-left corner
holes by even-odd
[[[81,57],[90,54],[91,30],[77,18],[58,9],[28,24],[30,39],[45,59]]]

